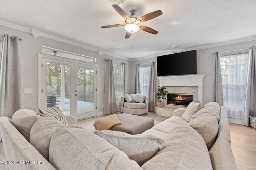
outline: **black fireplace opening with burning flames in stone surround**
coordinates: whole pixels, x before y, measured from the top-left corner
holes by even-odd
[[[188,106],[190,102],[193,102],[193,94],[167,94],[167,104],[175,106]]]

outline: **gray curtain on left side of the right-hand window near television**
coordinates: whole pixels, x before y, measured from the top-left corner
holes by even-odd
[[[220,53],[215,56],[215,102],[223,106],[222,77],[220,70]]]

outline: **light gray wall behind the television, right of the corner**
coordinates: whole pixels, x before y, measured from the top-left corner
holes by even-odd
[[[215,70],[215,53],[216,51],[232,51],[238,49],[249,48],[250,46],[256,46],[256,41],[247,41],[243,43],[236,43],[231,45],[224,45],[220,47],[213,47],[208,49],[197,50],[197,74],[206,74],[204,77],[203,86],[203,103],[214,101],[214,70]],[[156,88],[159,86],[159,80],[157,78],[157,68],[156,68],[156,57],[151,59],[145,59],[140,61],[134,61],[131,64],[132,73],[132,92],[134,93],[134,83],[135,83],[135,64],[149,63],[151,61],[155,62],[155,82]],[[156,89],[157,92],[157,89]]]

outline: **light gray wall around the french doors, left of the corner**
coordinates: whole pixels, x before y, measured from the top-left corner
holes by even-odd
[[[23,84],[24,88],[33,88],[33,93],[24,94],[24,107],[26,109],[32,109],[36,111],[38,108],[38,53],[42,53],[42,46],[52,47],[55,49],[60,49],[64,51],[69,51],[72,53],[78,53],[81,55],[86,55],[96,58],[96,64],[99,65],[99,87],[102,91],[98,89],[100,97],[98,99],[98,111],[102,112],[102,104],[104,103],[104,74],[105,74],[105,61],[104,59],[112,59],[113,61],[119,63],[126,63],[127,73],[130,72],[130,61],[123,59],[118,59],[116,57],[110,57],[108,55],[98,55],[94,51],[90,51],[84,48],[76,47],[74,45],[69,45],[62,43],[60,41],[55,41],[52,39],[37,37],[34,38],[30,33],[12,29],[0,25],[0,33],[8,33],[11,36],[18,36],[23,39],[22,41],[22,72],[23,72]],[[14,68],[15,69],[15,68]],[[131,76],[127,75],[127,82],[130,82]],[[127,90],[130,92],[130,84],[127,84]]]

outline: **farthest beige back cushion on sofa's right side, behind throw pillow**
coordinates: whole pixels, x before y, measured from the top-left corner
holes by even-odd
[[[198,117],[201,114],[210,114],[210,115],[214,115],[218,122],[220,121],[220,106],[218,103],[216,102],[210,102],[206,105],[204,105],[204,107],[202,107],[202,109],[200,109],[199,111],[196,112],[196,114],[194,114],[191,117],[191,121],[193,119],[195,119],[196,117]]]

